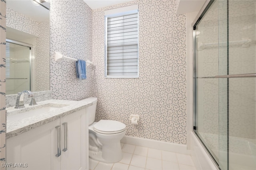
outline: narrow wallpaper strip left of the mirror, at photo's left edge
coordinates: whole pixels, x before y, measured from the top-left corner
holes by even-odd
[[[0,1],[0,162],[6,163],[5,57],[6,57],[6,2]],[[0,166],[0,170],[5,170]]]

